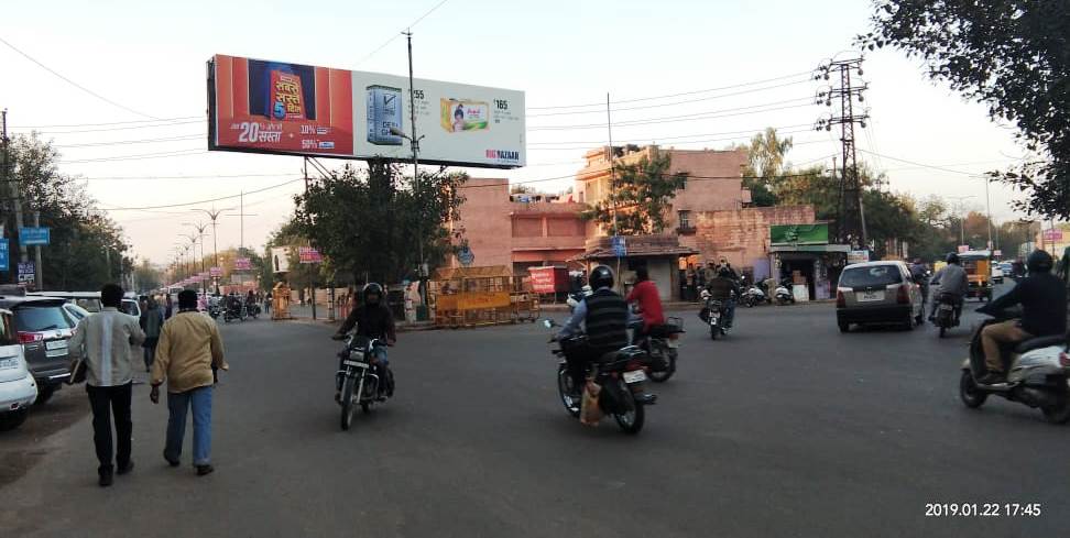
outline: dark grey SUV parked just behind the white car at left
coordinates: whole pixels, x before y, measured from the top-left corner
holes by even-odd
[[[11,310],[19,343],[37,383],[37,402],[45,403],[70,376],[67,341],[75,328],[54,297],[0,296],[0,308]]]

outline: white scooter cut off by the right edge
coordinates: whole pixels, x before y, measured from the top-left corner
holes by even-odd
[[[970,356],[962,362],[959,397],[971,409],[981,407],[990,395],[1002,396],[1009,402],[1020,402],[1039,408],[1051,424],[1070,420],[1070,334],[1056,334],[1026,340],[1013,350],[1004,350],[1007,378],[994,385],[981,385],[976,378],[984,375],[984,350],[981,331],[1005,319],[990,318],[973,331]]]

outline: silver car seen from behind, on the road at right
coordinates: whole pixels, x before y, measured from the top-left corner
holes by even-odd
[[[906,329],[925,321],[921,287],[903,262],[848,265],[836,292],[836,321],[840,332],[851,323],[898,323]]]

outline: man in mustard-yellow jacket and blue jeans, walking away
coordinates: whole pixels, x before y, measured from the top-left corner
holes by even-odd
[[[186,413],[192,407],[194,466],[200,476],[215,470],[210,461],[214,371],[228,367],[216,321],[197,311],[196,292],[183,290],[178,294],[178,314],[168,319],[160,332],[149,394],[153,404],[160,403],[160,385],[167,382],[170,418],[164,459],[171,466],[178,466],[186,435]]]

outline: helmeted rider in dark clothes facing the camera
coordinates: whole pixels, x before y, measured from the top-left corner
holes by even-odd
[[[393,345],[397,341],[397,334],[394,332],[394,315],[391,314],[383,301],[383,287],[374,282],[370,282],[364,285],[362,295],[364,297],[363,304],[353,307],[346,321],[338,328],[338,332],[331,338],[335,340],[343,340],[346,334],[356,327],[358,336],[374,338],[386,342],[386,345]],[[347,356],[346,351],[340,353],[340,355],[338,361],[339,371],[342,370],[341,361]],[[393,396],[394,376],[390,371],[390,361],[386,360],[386,348],[382,345],[375,347],[371,351],[371,359],[379,378],[385,382],[383,383],[385,386],[380,387],[380,389],[385,388],[386,396]],[[341,398],[340,377],[336,383],[335,391],[335,399],[338,400]]]

